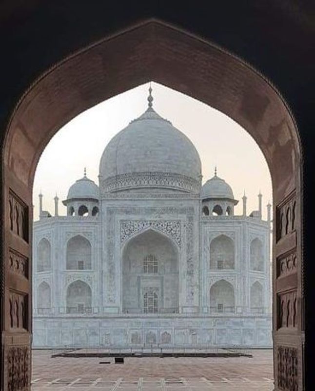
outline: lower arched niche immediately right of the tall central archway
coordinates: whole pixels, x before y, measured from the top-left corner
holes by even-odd
[[[226,280],[219,280],[210,288],[211,312],[235,312],[234,287]]]

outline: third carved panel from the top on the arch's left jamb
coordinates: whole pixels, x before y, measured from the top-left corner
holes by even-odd
[[[10,327],[28,330],[28,295],[10,292]]]

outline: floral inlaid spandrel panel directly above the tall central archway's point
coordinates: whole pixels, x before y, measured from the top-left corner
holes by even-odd
[[[180,220],[121,220],[120,221],[120,243],[136,233],[154,228],[163,232],[175,240],[177,245],[181,245]]]

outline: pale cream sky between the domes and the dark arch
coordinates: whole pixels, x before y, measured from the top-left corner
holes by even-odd
[[[43,209],[54,214],[59,196],[59,215],[66,215],[61,200],[69,187],[83,176],[98,184],[99,161],[104,148],[118,131],[147,109],[149,84],[141,85],[88,109],[62,127],[42,153],[34,180],[34,219],[39,218],[38,195]],[[194,143],[202,163],[203,183],[214,175],[223,178],[239,200],[235,215],[242,214],[242,196],[247,213],[258,209],[258,193],[272,203],[272,184],[266,160],[254,139],[235,121],[216,109],[171,88],[152,83],[153,108],[172,122]]]

